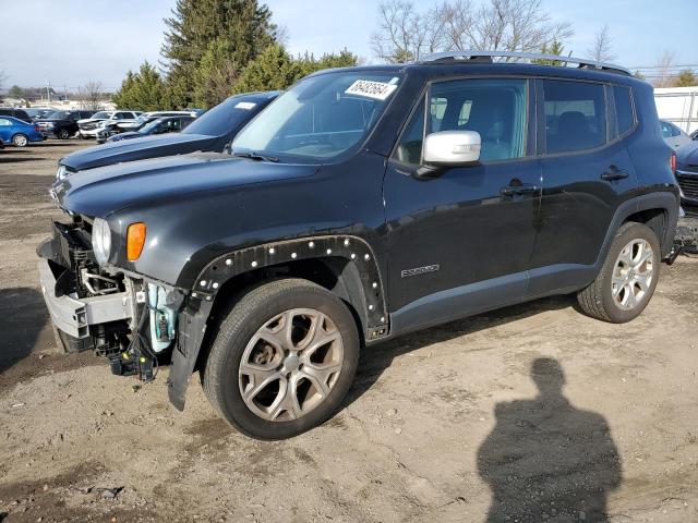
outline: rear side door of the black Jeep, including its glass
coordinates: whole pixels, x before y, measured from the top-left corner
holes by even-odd
[[[628,88],[539,80],[537,90],[544,123],[539,127],[543,193],[530,296],[590,281],[613,215],[637,187],[624,142],[636,125]]]

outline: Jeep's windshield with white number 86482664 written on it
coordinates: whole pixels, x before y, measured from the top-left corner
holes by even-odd
[[[248,125],[233,154],[289,155],[324,160],[360,144],[375,125],[401,76],[338,71],[296,84]]]

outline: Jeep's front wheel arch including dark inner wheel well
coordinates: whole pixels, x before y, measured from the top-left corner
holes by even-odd
[[[270,278],[313,281],[349,307],[362,343],[388,335],[384,279],[371,246],[352,235],[323,235],[265,243],[219,254],[200,272],[180,313],[168,381],[170,402],[184,409],[189,377],[206,358],[217,312]]]

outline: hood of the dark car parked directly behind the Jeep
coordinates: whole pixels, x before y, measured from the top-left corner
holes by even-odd
[[[59,163],[72,171],[94,169],[122,161],[182,155],[209,150],[216,136],[205,134],[169,133],[140,138],[109,142],[105,145],[76,150],[60,159]],[[82,175],[82,173],[80,174]]]

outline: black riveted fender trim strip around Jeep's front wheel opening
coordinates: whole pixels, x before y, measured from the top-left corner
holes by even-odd
[[[194,372],[206,331],[206,320],[222,285],[244,272],[291,262],[340,257],[359,273],[363,303],[359,314],[366,341],[388,335],[387,300],[374,251],[368,242],[349,234],[317,235],[264,243],[227,252],[210,260],[200,272],[194,289],[179,316],[177,345],[168,380],[170,402],[184,409],[186,386]]]

